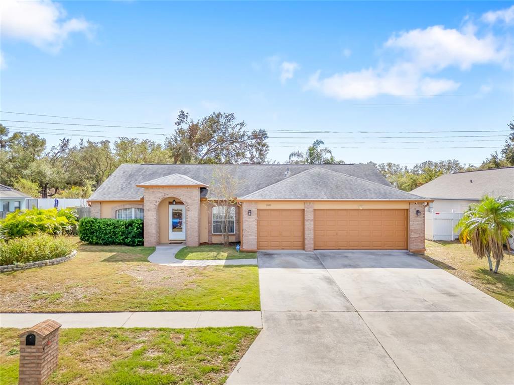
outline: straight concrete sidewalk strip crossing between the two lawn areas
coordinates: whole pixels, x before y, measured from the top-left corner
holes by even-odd
[[[261,312],[2,313],[0,327],[30,328],[46,319],[63,328],[262,328]]]

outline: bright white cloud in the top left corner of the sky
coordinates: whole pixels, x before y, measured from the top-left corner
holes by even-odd
[[[90,37],[93,30],[84,18],[67,18],[64,8],[51,0],[2,0],[0,14],[4,36],[52,53],[62,48],[71,33],[80,32]]]

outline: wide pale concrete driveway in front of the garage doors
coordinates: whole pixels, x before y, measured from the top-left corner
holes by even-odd
[[[264,329],[227,384],[514,384],[514,310],[406,252],[259,253]]]

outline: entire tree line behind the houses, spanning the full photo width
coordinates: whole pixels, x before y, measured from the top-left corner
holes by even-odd
[[[508,128],[511,132],[500,153],[493,152],[478,167],[455,159],[426,161],[410,168],[390,162],[369,163],[405,191],[449,172],[514,166],[514,122]],[[174,132],[163,143],[122,137],[114,142],[81,140],[72,146],[70,139],[64,138],[47,148],[39,134],[11,134],[0,124],[0,183],[33,197],[88,198],[123,163],[274,163],[268,159],[267,139],[265,130],[248,131],[244,121],[222,112],[194,120],[180,111]],[[305,152],[292,152],[287,163],[344,163],[323,145],[316,140]]]

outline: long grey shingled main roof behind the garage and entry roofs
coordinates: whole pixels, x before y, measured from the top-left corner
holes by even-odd
[[[173,174],[187,175],[188,178],[209,185],[218,166],[211,164],[122,164],[102,183],[89,200],[140,200],[144,190],[143,187],[136,185]],[[229,175],[239,181],[237,197],[243,197],[315,167],[391,186],[370,164],[241,164],[223,167],[226,167]],[[201,188],[200,196],[213,198],[209,196],[208,188]]]

